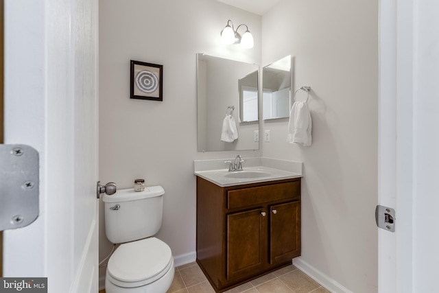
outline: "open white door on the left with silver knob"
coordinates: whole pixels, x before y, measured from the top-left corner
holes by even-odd
[[[40,155],[40,215],[5,231],[4,277],[97,288],[97,0],[5,0],[5,143]]]

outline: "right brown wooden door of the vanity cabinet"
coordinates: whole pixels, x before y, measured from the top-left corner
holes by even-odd
[[[270,263],[300,255],[300,201],[270,206]]]

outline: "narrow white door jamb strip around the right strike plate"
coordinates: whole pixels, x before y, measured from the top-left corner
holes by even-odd
[[[378,204],[396,209],[396,0],[379,1],[379,163]],[[378,290],[398,293],[396,235],[401,231],[396,209],[396,231],[378,229]],[[410,250],[409,250],[410,251]]]

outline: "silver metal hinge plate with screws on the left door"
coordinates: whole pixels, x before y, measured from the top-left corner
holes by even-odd
[[[34,222],[39,213],[38,152],[0,144],[0,231]]]

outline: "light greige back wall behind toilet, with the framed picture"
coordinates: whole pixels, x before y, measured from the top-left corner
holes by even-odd
[[[254,49],[220,44],[228,19],[248,25]],[[176,257],[195,252],[193,160],[236,156],[197,152],[196,54],[260,64],[260,36],[261,16],[214,0],[99,1],[99,179],[115,181],[119,189],[132,187],[136,178],[163,186],[157,237]],[[130,99],[130,60],[163,65],[163,102]],[[100,205],[99,259],[104,259],[111,244]]]

